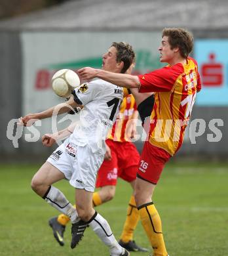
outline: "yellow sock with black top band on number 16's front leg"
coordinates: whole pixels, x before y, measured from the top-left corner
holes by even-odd
[[[153,202],[145,203],[138,207],[138,210],[143,228],[153,247],[153,256],[167,256],[168,253],[162,235],[161,219],[155,205],[153,205]]]

